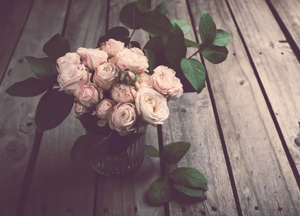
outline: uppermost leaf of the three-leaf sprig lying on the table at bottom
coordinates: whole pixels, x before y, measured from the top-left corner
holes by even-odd
[[[205,176],[199,170],[191,167],[179,167],[174,169],[170,174],[170,178],[184,186],[207,188]]]

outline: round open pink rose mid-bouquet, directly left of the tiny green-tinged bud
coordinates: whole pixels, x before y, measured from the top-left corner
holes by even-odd
[[[103,63],[97,66],[92,81],[103,90],[109,90],[117,82],[118,74],[118,68],[114,64]]]

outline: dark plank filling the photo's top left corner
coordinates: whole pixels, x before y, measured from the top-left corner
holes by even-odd
[[[11,0],[0,7],[0,78],[5,73],[14,47],[34,0]]]

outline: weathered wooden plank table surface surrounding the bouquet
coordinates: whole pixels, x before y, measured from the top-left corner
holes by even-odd
[[[201,58],[207,87],[169,102],[168,120],[147,132],[147,144],[156,147],[179,140],[192,144],[178,166],[207,176],[203,202],[150,206],[147,188],[161,175],[157,158],[146,158],[132,176],[98,175],[70,161],[72,143],[84,133],[74,113],[40,134],[34,125],[40,97],[3,93],[33,75],[23,56],[44,56],[42,46],[53,34],[64,35],[71,51],[94,47],[105,30],[121,25],[118,13],[129,1],[1,5],[0,215],[300,215],[297,0],[167,0],[168,17],[193,26],[186,38],[199,39],[196,24],[203,10],[233,37],[225,62]],[[143,45],[148,34],[137,30],[133,39]]]

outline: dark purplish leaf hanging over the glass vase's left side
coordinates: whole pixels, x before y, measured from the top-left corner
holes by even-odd
[[[106,156],[108,150],[106,136],[87,133],[79,136],[71,149],[71,160],[87,165],[95,165]]]

